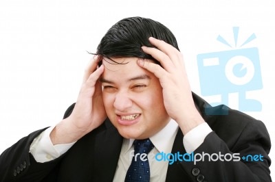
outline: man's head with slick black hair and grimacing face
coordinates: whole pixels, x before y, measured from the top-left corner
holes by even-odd
[[[132,17],[119,21],[102,38],[97,54],[102,57],[103,101],[108,118],[124,138],[149,138],[166,126],[162,86],[153,73],[137,65],[143,59],[158,64],[142,46],[153,47],[149,37],[174,47],[177,41],[161,23]]]

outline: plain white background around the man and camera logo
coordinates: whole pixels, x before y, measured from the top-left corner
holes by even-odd
[[[78,96],[91,57],[86,51],[96,52],[107,29],[129,16],[152,18],[173,31],[199,95],[197,54],[232,50],[216,40],[220,34],[234,44],[232,27],[240,27],[240,42],[256,34],[244,48],[259,48],[263,89],[251,95],[263,110],[248,114],[263,120],[273,143],[274,9],[274,1],[1,0],[0,153],[62,119]]]

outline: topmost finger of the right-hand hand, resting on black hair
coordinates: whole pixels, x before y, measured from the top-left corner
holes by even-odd
[[[158,40],[156,38],[150,37],[149,41],[151,44],[153,44],[157,49],[164,52],[168,57],[170,57],[170,60],[172,60],[173,64],[176,66],[179,66],[181,64],[180,62],[183,61],[182,55],[175,47],[172,45],[164,42],[163,40]]]

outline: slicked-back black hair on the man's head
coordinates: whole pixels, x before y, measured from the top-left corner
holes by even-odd
[[[139,57],[155,60],[144,53],[142,46],[153,47],[149,37],[164,40],[179,50],[173,33],[164,25],[150,18],[130,17],[115,23],[98,44],[96,55],[101,57]],[[155,62],[157,62],[155,60]]]

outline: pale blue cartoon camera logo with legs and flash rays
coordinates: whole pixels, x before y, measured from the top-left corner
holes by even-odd
[[[237,47],[239,27],[233,27],[234,48]],[[260,112],[261,102],[247,99],[246,92],[263,88],[261,78],[261,66],[259,50],[256,47],[241,49],[256,38],[252,34],[239,49],[202,53],[197,55],[199,79],[202,96],[220,96],[221,101],[211,103],[212,106],[228,105],[229,94],[239,94],[239,110],[242,112]],[[228,47],[233,48],[224,38],[218,36],[217,40]],[[210,112],[206,108],[206,114],[228,114],[228,112]]]

